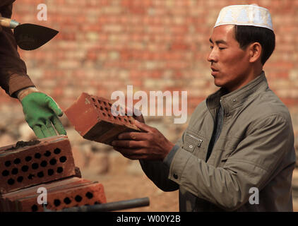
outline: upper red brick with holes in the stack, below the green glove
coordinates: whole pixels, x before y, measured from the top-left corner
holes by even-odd
[[[78,174],[67,136],[0,148],[0,194]]]

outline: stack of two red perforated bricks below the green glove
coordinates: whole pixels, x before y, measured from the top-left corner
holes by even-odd
[[[40,188],[50,210],[106,203],[102,184],[80,178],[67,136],[2,147],[0,162],[0,211],[43,211]]]

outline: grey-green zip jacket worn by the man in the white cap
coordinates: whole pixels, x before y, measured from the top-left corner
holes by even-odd
[[[222,131],[205,162],[220,105]],[[173,149],[169,166],[167,157],[140,162],[160,189],[179,189],[180,211],[292,211],[292,121],[264,73],[231,93],[220,88],[208,96]]]

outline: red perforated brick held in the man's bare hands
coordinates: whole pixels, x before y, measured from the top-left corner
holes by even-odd
[[[141,131],[133,117],[111,112],[112,103],[103,97],[82,93],[65,111],[71,124],[83,138],[110,145],[119,133]],[[124,112],[121,107],[119,111]],[[124,113],[125,114],[125,113]]]

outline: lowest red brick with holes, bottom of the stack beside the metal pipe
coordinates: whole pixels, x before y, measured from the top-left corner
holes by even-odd
[[[50,210],[107,203],[102,184],[73,177],[4,194],[0,199],[2,211],[43,211],[42,203],[37,203],[37,197],[42,194],[37,194],[40,187],[47,189]]]

